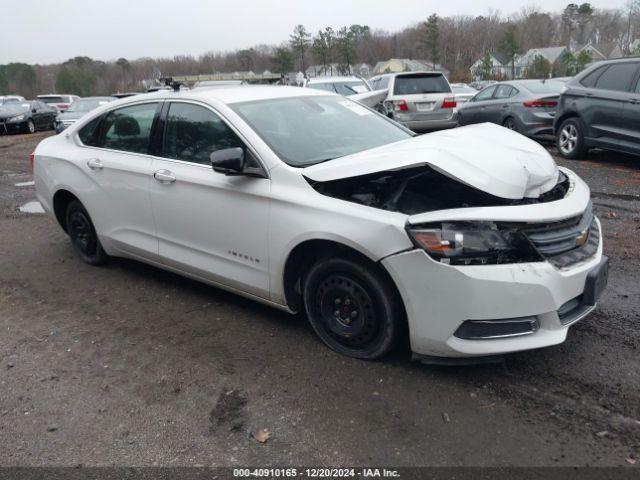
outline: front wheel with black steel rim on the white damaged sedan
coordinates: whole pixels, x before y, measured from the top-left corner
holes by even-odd
[[[390,280],[374,264],[350,258],[318,260],[303,279],[307,318],[332,350],[375,360],[397,344],[404,309]]]

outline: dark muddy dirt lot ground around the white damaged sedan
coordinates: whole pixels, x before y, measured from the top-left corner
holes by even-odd
[[[640,467],[640,159],[587,180],[609,289],[563,345],[500,365],[363,362],[302,318],[138,263],[81,263],[0,137],[1,465]],[[268,429],[266,444],[250,432]]]

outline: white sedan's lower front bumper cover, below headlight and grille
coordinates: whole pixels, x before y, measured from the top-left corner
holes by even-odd
[[[382,261],[404,302],[412,351],[442,357],[562,343],[569,325],[593,309],[588,303],[595,301],[585,295],[594,288],[590,274],[606,269],[606,260],[605,267],[602,263],[602,242],[590,259],[568,269],[549,262],[457,267],[438,263],[423,250]],[[606,283],[606,273],[604,277]],[[495,330],[483,329],[485,325]]]

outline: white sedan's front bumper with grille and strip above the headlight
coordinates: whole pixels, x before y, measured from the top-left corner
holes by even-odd
[[[601,226],[591,213],[588,187],[565,173],[571,188],[558,201],[409,218],[411,225],[519,221],[541,254],[540,261],[493,265],[443,263],[421,248],[384,258],[404,302],[415,354],[488,356],[555,345],[593,310],[607,282]],[[548,228],[541,230],[546,222]]]

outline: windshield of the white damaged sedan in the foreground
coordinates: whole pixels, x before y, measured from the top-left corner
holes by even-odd
[[[337,96],[260,100],[232,104],[287,164],[305,167],[412,135],[368,108]]]

